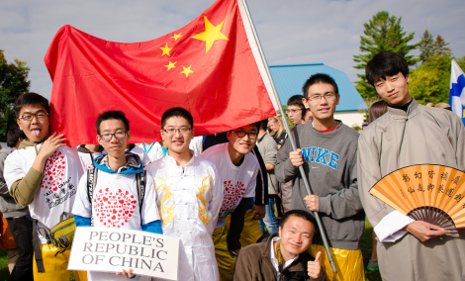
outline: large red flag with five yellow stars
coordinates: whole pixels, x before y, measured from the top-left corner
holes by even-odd
[[[95,143],[97,116],[122,110],[132,141],[152,142],[160,139],[161,115],[174,106],[192,113],[196,135],[275,115],[239,5],[219,0],[185,27],[147,42],[110,42],[63,26],[45,56],[52,129],[73,146]]]

